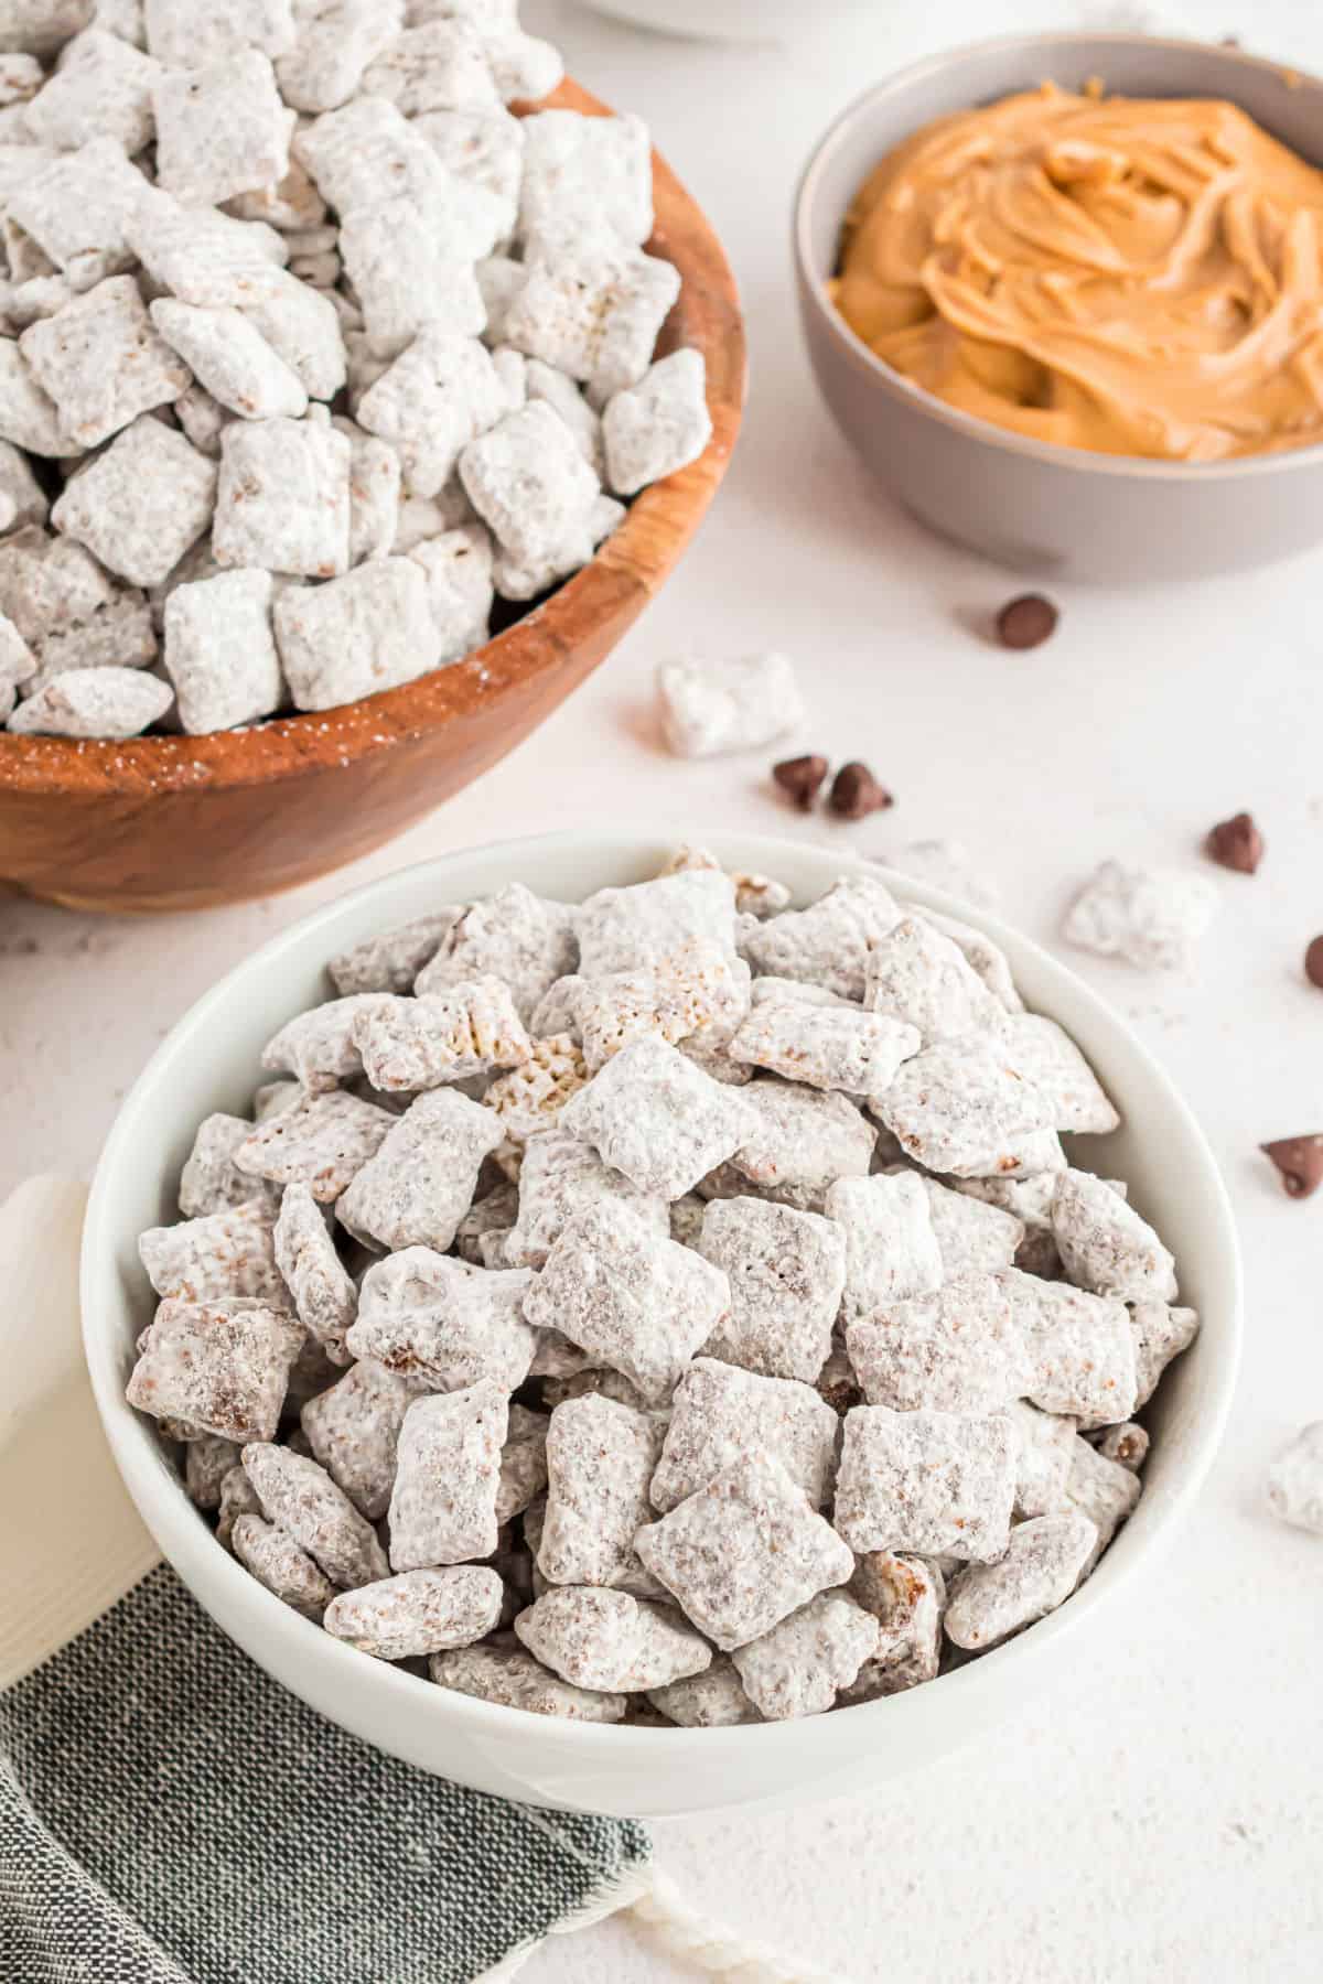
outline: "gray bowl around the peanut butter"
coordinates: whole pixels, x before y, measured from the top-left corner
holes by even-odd
[[[1012,434],[877,359],[827,298],[841,220],[901,139],[948,111],[1051,79],[1101,75],[1141,97],[1228,97],[1323,165],[1323,83],[1236,48],[1135,34],[1035,34],[956,48],[859,97],[809,159],[795,196],[795,274],[809,359],[851,446],[906,510],[1018,571],[1067,579],[1202,577],[1263,565],[1323,538],[1323,446],[1230,462],[1091,454]]]

